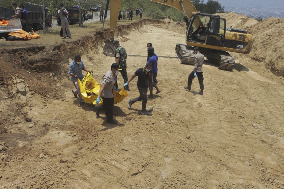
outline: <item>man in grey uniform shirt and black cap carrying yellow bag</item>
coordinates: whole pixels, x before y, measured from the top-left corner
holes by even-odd
[[[116,75],[119,74],[121,68],[119,64],[113,63],[110,70],[104,75],[103,82],[100,87],[96,104],[100,102],[100,98],[103,99],[103,107],[105,109],[105,116],[107,117],[107,123],[117,124],[113,117],[114,95],[112,90],[115,89]],[[100,115],[101,106],[95,106],[96,115]]]

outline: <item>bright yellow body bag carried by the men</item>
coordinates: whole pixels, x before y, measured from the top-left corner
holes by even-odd
[[[100,91],[100,85],[89,72],[85,75],[82,82],[80,81],[80,79],[77,80],[78,80],[78,86],[81,90],[82,99],[85,102],[94,105],[103,104],[102,98],[100,103],[96,104],[96,100],[98,98],[98,94]],[[123,99],[128,96],[127,92],[124,89],[116,89],[113,90],[112,92],[114,94],[114,104],[123,101]]]

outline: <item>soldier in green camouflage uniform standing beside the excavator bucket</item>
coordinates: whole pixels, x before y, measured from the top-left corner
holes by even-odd
[[[114,45],[114,48],[116,48],[115,53],[114,53],[115,62],[118,63],[120,68],[122,69],[120,72],[123,77],[124,83],[126,83],[128,81],[127,72],[126,72],[126,58],[127,58],[126,50],[119,44],[119,41],[117,40],[113,42],[113,45]],[[124,89],[128,91],[130,90],[128,85],[125,86]]]

